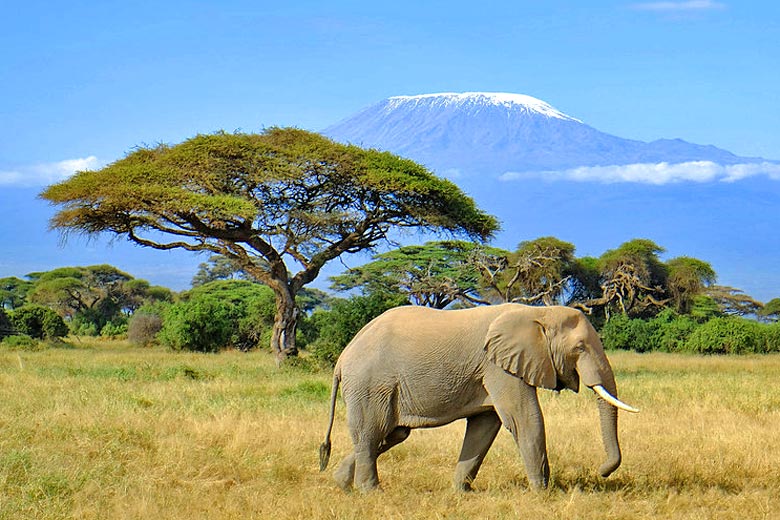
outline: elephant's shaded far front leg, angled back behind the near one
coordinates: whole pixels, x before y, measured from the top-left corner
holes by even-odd
[[[482,461],[493,444],[501,419],[494,411],[484,412],[467,419],[466,436],[455,467],[455,489],[471,491],[471,483],[477,478]]]

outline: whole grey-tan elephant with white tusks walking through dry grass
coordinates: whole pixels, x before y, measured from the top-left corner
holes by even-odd
[[[516,303],[391,309],[363,327],[336,362],[320,471],[330,459],[341,385],[354,447],[334,472],[341,488],[377,488],[377,457],[412,429],[466,419],[457,490],[471,490],[501,425],[514,437],[529,485],[544,489],[550,469],[537,388],[578,392],[580,381],[598,395],[607,454],[599,473],[607,477],[621,462],[618,408],[639,410],[617,398],[601,340],[582,312]]]

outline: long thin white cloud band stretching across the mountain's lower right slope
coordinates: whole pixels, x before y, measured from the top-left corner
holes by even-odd
[[[721,165],[711,161],[691,161],[677,164],[637,163],[615,166],[581,166],[563,171],[506,172],[502,181],[521,179],[567,180],[602,184],[632,182],[639,184],[673,184],[679,182],[735,182],[765,175],[780,181],[780,164],[746,163]]]

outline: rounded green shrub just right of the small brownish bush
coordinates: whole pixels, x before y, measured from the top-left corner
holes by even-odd
[[[157,335],[173,350],[217,352],[230,343],[235,305],[209,296],[171,305]]]

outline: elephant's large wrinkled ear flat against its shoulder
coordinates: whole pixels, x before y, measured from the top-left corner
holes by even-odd
[[[485,351],[490,361],[529,385],[551,390],[558,385],[544,328],[523,312],[506,312],[490,324]]]

